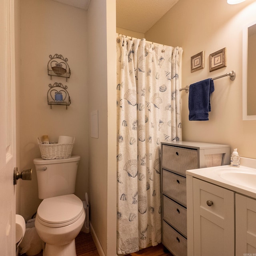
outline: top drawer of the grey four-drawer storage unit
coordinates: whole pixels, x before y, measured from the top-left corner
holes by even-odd
[[[186,170],[197,169],[197,150],[162,146],[162,167],[186,174]]]

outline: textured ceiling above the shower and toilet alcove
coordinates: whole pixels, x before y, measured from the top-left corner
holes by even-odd
[[[84,10],[90,0],[53,0]],[[93,1],[93,0],[92,0]],[[179,0],[116,0],[116,26],[135,32],[147,32]]]

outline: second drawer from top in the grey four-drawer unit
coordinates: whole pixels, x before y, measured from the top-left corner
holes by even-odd
[[[162,169],[163,193],[186,206],[186,178]]]

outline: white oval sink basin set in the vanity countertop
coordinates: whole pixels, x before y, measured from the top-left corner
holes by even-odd
[[[256,189],[256,169],[253,168],[223,168],[218,170],[218,175],[229,182]]]

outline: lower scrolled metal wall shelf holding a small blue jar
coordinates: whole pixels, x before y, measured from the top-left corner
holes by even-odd
[[[70,96],[66,90],[68,86],[64,86],[62,83],[49,84],[50,89],[47,92],[48,105],[64,105],[66,109],[71,104]]]

